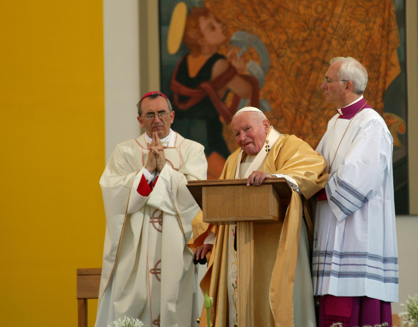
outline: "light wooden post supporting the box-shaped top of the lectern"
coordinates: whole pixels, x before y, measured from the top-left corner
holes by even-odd
[[[254,324],[254,223],[237,222],[238,326]]]

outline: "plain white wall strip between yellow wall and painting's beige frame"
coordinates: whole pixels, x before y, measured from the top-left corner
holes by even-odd
[[[140,126],[139,2],[103,1],[106,162],[116,144],[137,138]]]

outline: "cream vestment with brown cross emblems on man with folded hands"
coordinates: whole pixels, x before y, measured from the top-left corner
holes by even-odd
[[[199,207],[186,184],[206,179],[207,163],[201,144],[173,131],[166,142],[167,163],[148,196],[137,192],[145,134],[118,144],[100,179],[107,226],[96,327],[124,316],[150,327],[197,326],[197,271],[186,242]]]

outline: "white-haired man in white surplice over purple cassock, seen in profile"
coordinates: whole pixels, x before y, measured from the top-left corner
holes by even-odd
[[[393,139],[363,97],[367,71],[351,57],[330,61],[326,101],[337,107],[316,149],[329,180],[318,195],[312,279],[319,326],[392,326],[398,302]]]

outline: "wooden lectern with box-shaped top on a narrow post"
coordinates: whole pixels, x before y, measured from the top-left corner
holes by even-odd
[[[269,303],[270,282],[256,280],[254,267],[273,271],[275,255],[265,257],[263,249],[277,248],[279,242],[278,236],[277,244],[263,244],[257,242],[257,236],[273,229],[280,235],[292,190],[283,177],[267,178],[260,186],[247,186],[247,179],[195,180],[189,181],[187,188],[202,209],[204,222],[237,224],[238,326],[255,326],[255,321],[260,321],[257,314],[265,314],[260,310],[265,305],[257,303],[255,310],[254,292],[257,290],[257,298]],[[266,223],[275,226],[259,225]],[[270,305],[267,307],[271,312]]]

